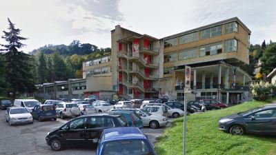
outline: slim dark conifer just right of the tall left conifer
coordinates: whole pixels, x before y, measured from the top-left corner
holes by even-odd
[[[39,83],[45,83],[48,79],[48,68],[43,52],[39,54],[39,66],[37,68]]]

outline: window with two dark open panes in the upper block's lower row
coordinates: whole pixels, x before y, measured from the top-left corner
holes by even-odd
[[[199,56],[208,56],[222,53],[222,45],[221,43],[206,45],[200,48]]]

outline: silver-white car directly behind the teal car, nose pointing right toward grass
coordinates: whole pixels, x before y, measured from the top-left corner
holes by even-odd
[[[143,122],[144,127],[151,127],[152,129],[156,129],[158,127],[164,127],[168,124],[168,118],[166,116],[161,116],[157,114],[150,114],[144,110],[140,110],[138,108],[135,109],[112,109],[112,112],[117,111],[132,111],[139,114],[141,120]]]

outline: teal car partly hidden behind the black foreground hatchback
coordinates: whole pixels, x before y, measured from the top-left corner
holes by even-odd
[[[121,115],[128,122],[128,126],[130,127],[139,127],[139,129],[143,129],[143,122],[140,116],[136,112],[119,110],[116,112],[108,112],[108,114],[112,115]]]

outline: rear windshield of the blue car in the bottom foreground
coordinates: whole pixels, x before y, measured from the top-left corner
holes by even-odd
[[[144,140],[121,140],[109,141],[103,146],[103,154],[128,154],[128,155],[144,155],[153,154],[148,147],[148,143]]]

